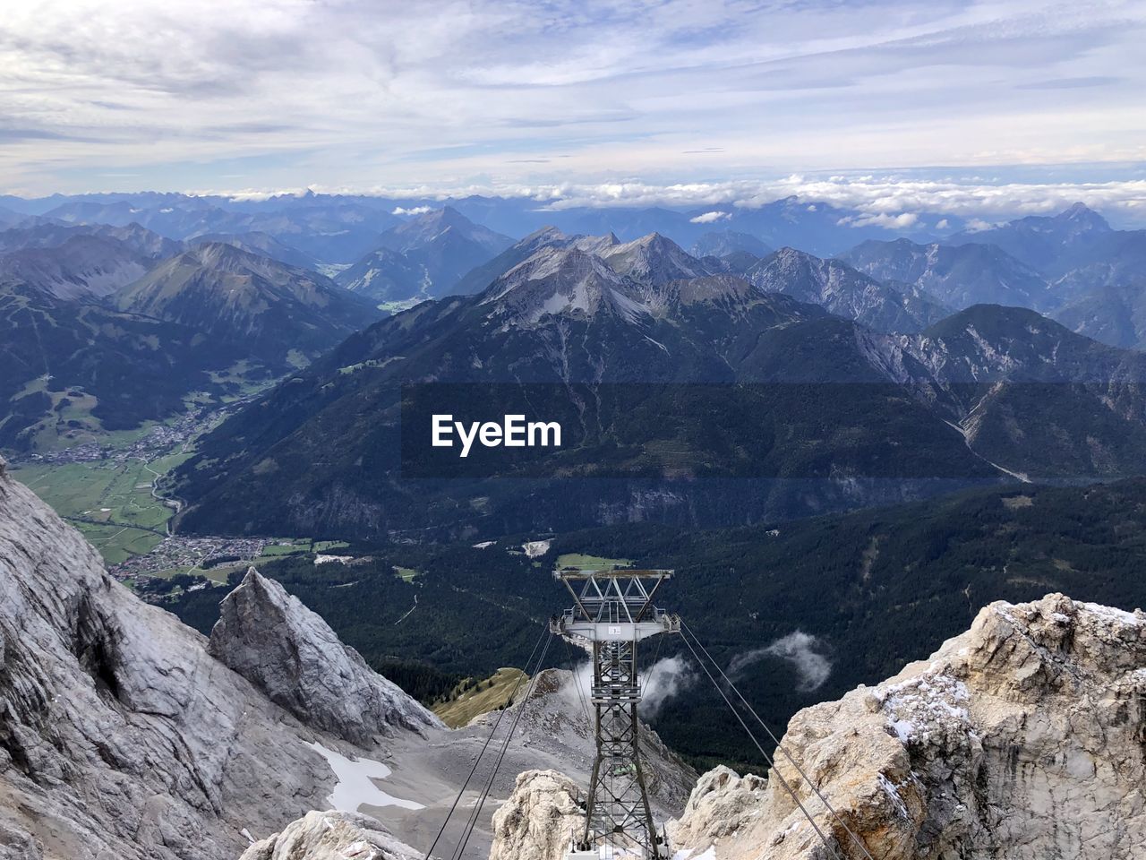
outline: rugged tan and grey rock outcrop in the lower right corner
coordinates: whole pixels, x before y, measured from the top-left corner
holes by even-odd
[[[1146,857],[1146,615],[995,603],[931,660],[806,709],[784,745],[881,860]],[[863,852],[783,756],[767,788],[701,779],[672,828],[727,860],[825,858],[777,775]]]

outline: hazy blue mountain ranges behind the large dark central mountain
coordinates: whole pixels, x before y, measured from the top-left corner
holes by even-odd
[[[96,376],[107,375],[72,369],[68,380],[61,376],[46,390],[33,392],[32,389],[44,389],[44,383],[36,383],[36,378],[50,373],[52,362],[45,365],[42,359],[32,358],[40,352],[71,355],[77,349],[74,344],[84,344],[83,360],[64,362],[72,368],[93,367],[99,363],[93,357],[101,354],[118,355],[108,359],[112,362],[109,366],[123,368],[113,375],[118,382],[110,388],[107,382],[102,384],[102,399],[92,397],[102,404],[101,413],[112,425],[131,425],[141,415],[154,419],[178,412],[191,391],[219,396],[222,390],[236,390],[243,378],[264,384],[291,373],[377,319],[375,305],[393,311],[425,298],[485,295],[490,284],[508,277],[516,267],[529,261],[527,269],[535,269],[537,260],[532,258],[544,249],[578,250],[603,261],[623,283],[602,295],[631,299],[645,307],[647,313],[642,311],[641,315],[650,319],[666,312],[680,314],[685,305],[691,310],[683,313],[694,316],[698,307],[713,307],[725,300],[709,297],[707,304],[692,299],[682,304],[678,297],[672,297],[672,290],[664,289],[673,281],[739,277],[758,292],[784,294],[817,305],[879,335],[918,335],[952,312],[976,304],[1029,307],[1073,330],[1121,347],[1143,345],[1141,333],[1146,330],[1146,288],[1141,274],[1146,272],[1143,250],[1146,234],[1115,230],[1081,204],[1058,216],[934,236],[926,243],[909,237],[870,240],[833,259],[816,257],[807,250],[823,243],[815,239],[809,225],[826,229],[827,210],[794,200],[748,212],[716,208],[712,210],[716,214],[697,224],[691,219],[699,216],[692,214],[684,219],[691,226],[683,232],[681,217],[688,212],[675,210],[573,214],[567,210],[542,210],[531,217],[551,219],[557,225],[612,222],[621,230],[592,234],[549,226],[518,242],[474,220],[516,224],[513,218],[519,216],[510,216],[516,210],[492,198],[454,201],[437,209],[423,206],[427,211],[414,208],[413,213],[401,208],[391,211],[390,203],[382,198],[323,195],[266,201],[181,195],[88,196],[34,203],[6,200],[14,212],[7,222],[14,226],[0,230],[0,281],[6,284],[9,326],[15,326],[11,314],[28,307],[37,308],[38,320],[63,321],[60,327],[45,329],[53,336],[42,341],[42,345],[41,341],[34,341],[37,329],[10,339],[9,351],[18,352],[13,367],[23,369],[11,375],[6,388],[10,420],[8,413],[0,415],[6,428],[2,444],[9,447],[40,444],[34,439],[49,425],[57,428],[57,441],[66,443],[70,431],[77,429],[69,422],[99,423],[88,420],[88,408],[77,406],[91,404],[87,396],[68,398],[71,405],[65,407],[65,415],[56,405],[66,390],[84,392],[85,386],[95,384]],[[834,210],[832,214],[837,220],[843,218]],[[167,234],[129,220],[136,217]],[[96,218],[110,224],[93,222]],[[775,224],[770,218],[777,219]],[[776,226],[782,222],[788,225],[785,229],[803,230],[799,234],[802,249],[770,250],[772,244],[768,240],[793,235]],[[693,236],[694,253],[685,252],[664,233],[625,235],[635,225],[654,224],[667,225],[678,236]],[[764,229],[766,224],[772,226]],[[220,229],[211,232],[207,227]],[[839,237],[857,235],[857,228],[851,226],[838,230]],[[317,248],[314,243],[324,241],[322,237],[328,234],[338,237],[343,250],[312,252]],[[346,250],[352,240],[359,243],[354,257]],[[777,243],[783,245],[782,241]],[[226,245],[237,252],[223,251]],[[346,261],[332,264],[331,259]],[[558,268],[575,269],[576,265],[565,260]],[[333,283],[328,275],[335,279]],[[603,277],[607,281],[610,275],[598,267],[589,286],[596,289]],[[233,291],[240,282],[243,288]],[[727,280],[706,283],[716,292],[723,290],[722,295],[743,290],[739,286],[729,288]],[[717,283],[723,286],[715,287]],[[339,284],[353,289],[339,289]],[[19,299],[14,297],[14,290],[19,292]],[[536,290],[535,284],[531,286],[516,294],[512,302],[520,303],[525,294]],[[347,292],[356,292],[358,297]],[[557,292],[572,296],[565,287]],[[549,300],[558,299],[550,296]],[[83,312],[77,304],[84,305]],[[612,298],[606,304],[617,307]],[[56,311],[63,305],[65,311]],[[454,306],[446,303],[444,308],[447,305]],[[575,305],[573,302],[570,307]],[[662,305],[676,310],[665,311]],[[418,318],[437,319],[444,308]],[[116,320],[131,325],[126,328],[110,325],[104,319],[109,313],[119,314]],[[79,323],[79,318],[87,322]],[[432,328],[437,330],[445,325],[434,323]],[[677,325],[691,326],[694,321],[681,316]],[[720,327],[712,320],[706,325]],[[211,338],[213,354],[211,349],[201,349],[188,329]],[[162,397],[143,396],[142,392],[158,390],[154,381],[142,386],[129,382],[133,375],[150,380],[151,374],[147,368],[138,374],[131,369],[143,361],[146,351],[115,343],[127,330],[152,333],[147,342],[157,344],[157,354],[163,355],[154,367],[187,368],[186,373],[165,372],[164,376],[174,378],[172,384],[159,386],[165,391]],[[780,337],[779,331],[776,329],[771,336]],[[29,337],[33,338],[34,347],[28,345],[32,343]],[[650,337],[668,349],[667,341],[656,334]],[[681,341],[676,330],[665,337]],[[800,339],[800,344],[786,349],[795,350],[791,355],[810,355],[815,366],[819,346],[811,341],[803,343],[802,334]],[[353,353],[358,343],[348,343],[347,352]],[[660,349],[650,341],[641,343]],[[520,349],[531,347],[523,339]],[[604,346],[602,354],[643,349],[633,344]],[[714,360],[713,355],[699,359],[705,351],[714,352],[712,344],[693,344],[692,351],[698,357],[697,367]],[[378,357],[364,355],[361,361],[385,361],[387,355],[382,352]],[[633,369],[629,374],[633,377],[643,378],[644,372],[650,370],[650,378],[672,377],[677,382],[690,378],[696,369],[689,365],[675,374],[652,372],[656,362],[650,363],[645,358],[619,358],[619,362],[629,361],[633,368],[643,368]],[[723,355],[719,362],[725,360],[736,369],[724,368],[723,376],[713,376],[709,368],[704,372],[709,376],[701,374],[700,378],[738,378],[739,359]],[[355,363],[358,359],[340,366]],[[823,363],[823,373],[804,377],[829,378],[829,362]],[[48,369],[33,373],[40,366]],[[846,370],[843,376],[847,377]],[[912,372],[908,376],[918,374]],[[500,377],[486,374],[486,378]],[[539,378],[549,377],[542,374]],[[109,397],[109,391],[115,393]],[[151,405],[141,409],[135,400]],[[159,401],[165,406],[160,408]],[[112,415],[118,411],[123,412],[121,420]],[[1097,459],[1105,456],[1100,453]],[[1089,474],[1117,472],[1121,467],[1115,461],[1120,458]],[[1041,468],[1035,471],[1047,474]],[[1063,467],[1058,471],[1069,469]]]

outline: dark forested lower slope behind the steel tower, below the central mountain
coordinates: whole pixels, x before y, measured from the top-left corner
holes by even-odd
[[[456,674],[523,665],[536,630],[567,595],[550,577],[565,554],[673,568],[661,603],[680,611],[722,665],[741,657],[746,695],[772,726],[804,705],[872,683],[928,654],[995,600],[1063,592],[1146,604],[1146,480],[1085,487],[974,490],[911,505],[709,531],[627,524],[493,546],[370,545],[353,564],[270,562],[284,584],[376,667],[411,689]],[[545,553],[521,553],[547,538]],[[406,581],[394,566],[418,576]],[[223,588],[168,607],[210,630]],[[408,612],[409,620],[395,621]],[[473,625],[479,611],[482,624]],[[666,641],[660,658],[681,652]],[[567,655],[554,658],[556,664]],[[402,673],[395,669],[406,663]],[[421,669],[419,669],[421,666]],[[432,682],[434,673],[455,673]],[[453,679],[453,680],[452,680]],[[693,679],[699,681],[699,679]],[[685,688],[686,689],[686,688]],[[731,718],[689,695],[652,719],[667,743],[704,765],[747,758]]]

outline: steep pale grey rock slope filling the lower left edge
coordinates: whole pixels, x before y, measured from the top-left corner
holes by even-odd
[[[325,804],[313,733],[205,646],[0,466],[0,858],[222,860]]]

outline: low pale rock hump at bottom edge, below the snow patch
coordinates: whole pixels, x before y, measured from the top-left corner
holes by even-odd
[[[257,842],[241,860],[421,860],[368,815],[308,812],[282,832]]]

